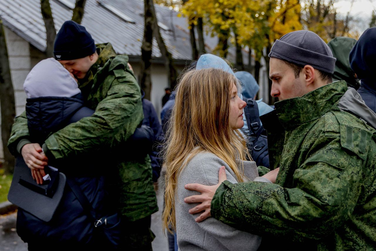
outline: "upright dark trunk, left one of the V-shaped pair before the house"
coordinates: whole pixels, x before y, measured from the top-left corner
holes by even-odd
[[[153,0],[144,0],[144,39],[141,46],[141,76],[140,86],[145,92],[145,98],[150,100],[150,93],[152,91],[152,45],[153,45],[153,24],[155,23],[152,14],[151,6]]]

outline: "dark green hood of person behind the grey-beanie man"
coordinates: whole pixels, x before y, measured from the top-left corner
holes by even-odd
[[[354,47],[356,40],[347,37],[337,37],[332,39],[328,46],[332,50],[333,56],[337,59],[335,62],[333,81],[344,80],[348,87],[356,90],[359,88],[359,81],[354,77],[354,72],[350,68],[349,55]]]

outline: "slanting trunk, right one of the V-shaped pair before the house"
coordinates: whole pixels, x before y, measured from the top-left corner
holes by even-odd
[[[150,1],[153,3],[153,0],[150,0]],[[168,51],[167,46],[164,43],[164,40],[162,38],[161,31],[159,30],[154,5],[152,4],[150,7],[151,7],[150,9],[152,10],[152,15],[154,18],[154,25],[153,25],[154,37],[157,40],[158,48],[161,51],[162,58],[165,61],[165,67],[168,70],[169,85],[171,89],[174,89],[176,86],[176,82],[177,82],[177,73],[176,73],[176,68],[174,66],[172,54]]]

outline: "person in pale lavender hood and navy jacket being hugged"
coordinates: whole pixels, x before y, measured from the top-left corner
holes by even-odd
[[[52,132],[94,113],[83,105],[76,79],[54,58],[44,59],[33,67],[24,82],[24,90],[30,140],[40,145]],[[67,180],[76,183],[97,216],[101,217],[109,210],[106,207],[111,207],[103,192],[104,177],[93,172],[96,166],[88,156],[81,158],[87,166],[72,159],[64,163],[50,160],[49,165],[57,167],[65,173]],[[42,184],[44,181],[33,171],[36,183]],[[42,173],[45,175],[44,171]],[[17,233],[28,243],[29,250],[38,250],[42,242],[94,248],[101,245],[94,237],[94,231],[91,216],[82,208],[68,184],[65,184],[63,197],[51,221],[44,222],[22,208],[17,212]]]

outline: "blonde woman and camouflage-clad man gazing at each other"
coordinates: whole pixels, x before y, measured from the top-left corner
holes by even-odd
[[[177,85],[164,228],[182,251],[375,250],[376,115],[332,82],[336,59],[315,33],[284,35],[269,57],[280,100],[262,117],[271,172],[246,161],[246,103],[228,65],[196,67]]]

